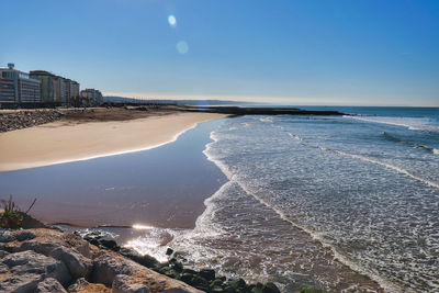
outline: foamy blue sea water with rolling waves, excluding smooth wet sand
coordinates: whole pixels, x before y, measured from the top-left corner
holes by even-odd
[[[171,241],[196,267],[283,291],[439,292],[439,109],[240,116],[205,155],[227,176]]]

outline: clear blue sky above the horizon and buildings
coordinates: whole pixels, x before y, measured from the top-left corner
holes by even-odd
[[[105,94],[439,105],[437,0],[0,0],[0,66]]]

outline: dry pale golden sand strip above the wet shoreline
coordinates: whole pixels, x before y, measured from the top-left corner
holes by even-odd
[[[125,121],[63,120],[1,133],[0,172],[154,148],[221,116],[175,112]]]

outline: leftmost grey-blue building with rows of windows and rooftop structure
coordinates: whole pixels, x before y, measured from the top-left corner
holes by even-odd
[[[33,79],[29,74],[14,69],[13,64],[8,64],[8,68],[0,68],[0,77],[2,79],[12,80],[13,82],[13,103],[40,103],[41,99],[41,81]],[[2,84],[10,84],[3,80]],[[5,87],[5,86],[4,86]],[[8,98],[8,101],[11,99]],[[0,101],[0,102],[8,102]]]

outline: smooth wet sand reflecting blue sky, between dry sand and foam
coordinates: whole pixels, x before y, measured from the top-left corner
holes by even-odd
[[[200,123],[177,142],[145,151],[0,173],[0,199],[13,196],[40,221],[74,226],[193,228],[204,200],[224,182],[203,154],[222,123]]]

